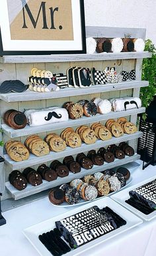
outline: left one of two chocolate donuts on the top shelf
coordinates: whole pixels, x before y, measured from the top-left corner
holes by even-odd
[[[97,48],[96,51],[97,53],[110,53],[112,49],[112,43],[110,39],[106,39],[104,37],[100,38],[97,40]]]

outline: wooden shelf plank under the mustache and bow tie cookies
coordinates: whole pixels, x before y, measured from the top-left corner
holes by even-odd
[[[19,102],[29,100],[46,100],[52,98],[64,98],[69,96],[94,94],[98,92],[109,92],[116,90],[126,90],[132,88],[146,87],[149,85],[147,81],[126,81],[118,82],[117,84],[100,84],[93,85],[87,88],[64,88],[56,92],[32,92],[26,90],[25,92],[11,92],[6,94],[0,94],[0,100],[5,102]]]

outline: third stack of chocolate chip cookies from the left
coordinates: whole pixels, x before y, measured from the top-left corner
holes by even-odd
[[[48,134],[44,140],[54,152],[60,152],[66,148],[65,141],[56,133]]]

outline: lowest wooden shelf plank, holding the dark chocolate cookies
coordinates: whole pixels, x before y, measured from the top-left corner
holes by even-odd
[[[15,187],[13,187],[13,185],[10,184],[10,182],[6,182],[5,186],[6,186],[7,190],[9,191],[9,193],[11,193],[11,196],[15,200],[17,200],[17,199],[26,197],[28,195],[34,195],[35,193],[39,193],[44,190],[48,190],[50,188],[55,188],[56,186],[60,186],[61,184],[64,184],[64,183],[71,182],[71,180],[73,180],[75,178],[81,179],[85,175],[95,174],[95,172],[103,172],[104,170],[114,168],[116,166],[122,166],[123,164],[128,164],[130,162],[134,162],[136,160],[139,160],[139,158],[140,158],[140,156],[138,154],[135,154],[134,156],[126,156],[122,160],[115,159],[114,162],[109,163],[109,164],[105,162],[102,166],[93,166],[93,168],[90,170],[85,170],[85,169],[81,168],[81,172],[79,172],[77,174],[73,174],[73,173],[69,172],[69,176],[66,176],[64,178],[58,177],[57,180],[54,180],[52,182],[47,182],[46,180],[43,180],[43,183],[36,187],[32,186],[31,184],[28,184],[27,187],[22,191],[17,190]]]

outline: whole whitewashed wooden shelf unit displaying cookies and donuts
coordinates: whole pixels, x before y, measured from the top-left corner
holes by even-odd
[[[128,29],[128,28],[108,28],[108,27],[87,27],[87,37],[124,37],[126,34],[131,34],[132,38],[145,39],[145,29]],[[0,82],[4,80],[19,79],[22,82],[27,82],[27,77],[30,75],[30,69],[34,66],[40,69],[52,70],[52,72],[65,72],[69,66],[95,66],[98,70],[104,70],[105,66],[116,66],[118,72],[121,70],[130,71],[136,69],[136,80],[127,80],[126,82],[120,82],[118,84],[106,84],[96,85],[89,88],[65,88],[58,92],[32,92],[27,90],[23,93],[9,93],[0,94],[1,104],[1,116],[3,116],[6,110],[11,108],[23,111],[30,108],[46,108],[49,106],[62,106],[66,101],[77,102],[83,98],[91,100],[94,97],[101,98],[122,98],[124,96],[139,96],[139,89],[141,87],[148,86],[147,81],[141,80],[141,64],[143,58],[151,57],[151,53],[101,53],[93,55],[41,55],[41,56],[4,56],[0,57],[0,70],[1,77]],[[91,124],[93,122],[100,122],[109,118],[118,118],[120,116],[129,116],[130,121],[136,124],[137,114],[145,112],[145,108],[127,110],[122,112],[110,112],[105,115],[97,114],[91,118],[83,117],[79,120],[69,120],[69,122],[60,122],[46,126],[26,126],[22,130],[13,130],[5,124],[1,124],[3,129],[2,140],[6,142],[11,138],[18,138],[18,140],[24,141],[24,136],[30,134],[39,134],[42,138],[52,130],[59,130],[68,126],[80,126],[82,124]],[[3,121],[2,121],[3,122]],[[59,132],[58,132],[59,134]],[[37,168],[39,164],[47,163],[52,160],[63,158],[68,155],[76,155],[79,152],[87,152],[88,150],[97,149],[102,146],[108,146],[108,144],[118,144],[120,142],[129,141],[129,144],[134,147],[136,151],[137,138],[141,136],[141,132],[124,136],[120,138],[112,137],[111,140],[102,141],[97,140],[95,144],[87,145],[82,144],[79,148],[69,148],[63,152],[50,152],[50,154],[43,157],[36,157],[30,154],[30,158],[23,162],[14,162],[9,158],[7,154],[4,155],[5,164],[1,164],[0,167],[0,189],[3,192],[3,200],[9,198],[22,199],[29,195],[42,192],[48,188],[59,186],[65,182],[71,181],[73,178],[82,178],[87,174],[94,174],[95,172],[102,172],[108,168],[114,168],[129,162],[134,162],[139,159],[139,155],[135,154],[132,157],[124,158],[124,160],[115,160],[110,164],[104,163],[103,166],[94,166],[91,170],[81,170],[78,174],[69,174],[65,178],[58,178],[54,182],[44,181],[38,187],[32,187],[30,184],[28,187],[19,192],[15,190],[8,182],[9,173],[12,170],[23,170],[28,166]],[[3,149],[0,149],[0,154],[3,156]],[[27,199],[26,199],[27,200]],[[24,201],[23,201],[24,203]],[[13,203],[12,203],[13,205]]]

